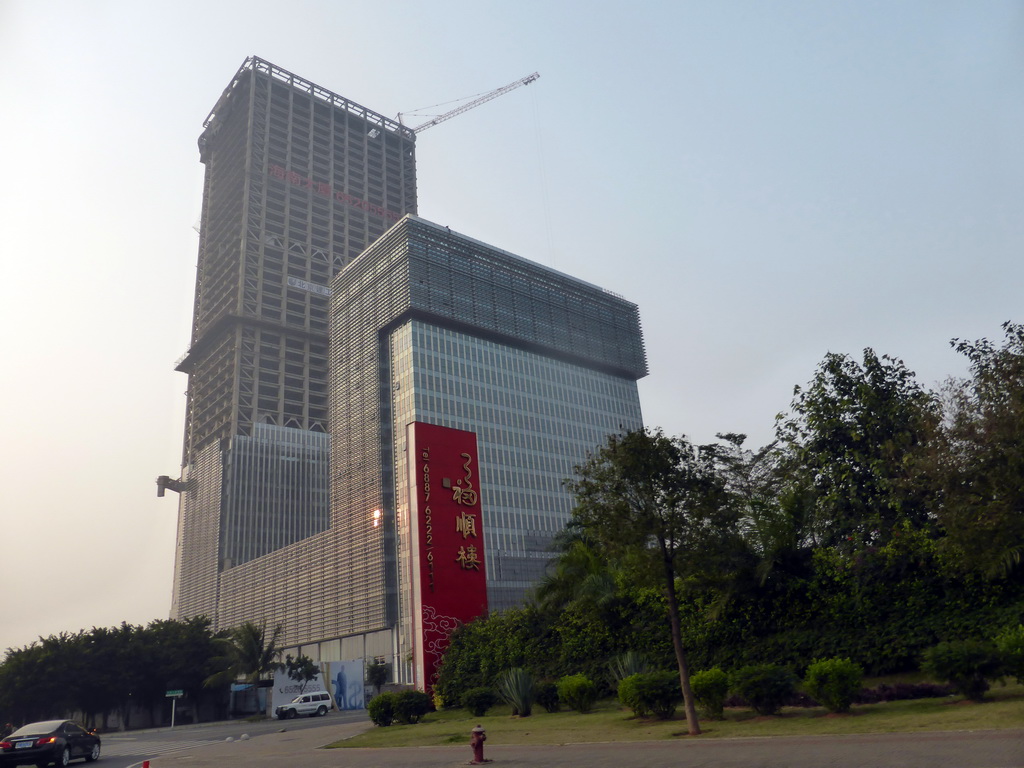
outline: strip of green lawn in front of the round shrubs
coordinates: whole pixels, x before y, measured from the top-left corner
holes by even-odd
[[[548,714],[536,708],[528,718],[512,717],[508,707],[496,707],[482,718],[465,710],[428,715],[416,725],[372,728],[354,738],[329,744],[352,746],[436,746],[469,742],[473,726],[487,731],[487,745],[563,744],[588,741],[641,741],[687,736],[680,709],[672,720],[639,720],[615,699],[599,701],[588,715]],[[1024,727],[1024,685],[996,684],[982,703],[959,696],[858,705],[848,715],[830,715],[823,708],[786,708],[775,717],[751,710],[726,710],[724,720],[701,720],[699,738],[881,733],[887,731],[983,730]]]

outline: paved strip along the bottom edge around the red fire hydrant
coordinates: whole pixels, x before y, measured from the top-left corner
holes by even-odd
[[[151,761],[152,768],[439,768],[466,765],[465,745],[322,750],[370,723],[271,733]],[[487,743],[495,768],[1024,768],[1024,729],[621,741],[516,746]]]

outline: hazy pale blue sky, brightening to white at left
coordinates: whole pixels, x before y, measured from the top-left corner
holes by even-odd
[[[1024,321],[1021,2],[0,0],[0,651],[166,617],[203,179],[247,55],[418,140],[420,214],[640,305],[651,426]]]

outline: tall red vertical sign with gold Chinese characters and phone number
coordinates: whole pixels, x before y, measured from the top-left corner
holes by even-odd
[[[452,631],[487,611],[476,434],[409,425],[413,657],[428,693]]]

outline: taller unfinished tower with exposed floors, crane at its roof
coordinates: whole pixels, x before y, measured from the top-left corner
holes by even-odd
[[[224,627],[234,567],[330,527],[330,283],[415,213],[415,134],[251,57],[199,144],[206,173],[191,340],[177,365],[188,388],[171,614]]]

